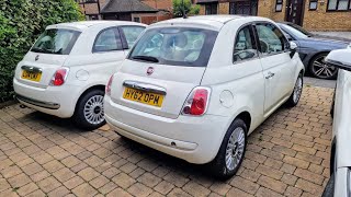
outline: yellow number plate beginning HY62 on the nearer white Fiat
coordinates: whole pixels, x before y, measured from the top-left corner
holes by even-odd
[[[125,100],[161,107],[165,95],[125,88],[123,97]]]

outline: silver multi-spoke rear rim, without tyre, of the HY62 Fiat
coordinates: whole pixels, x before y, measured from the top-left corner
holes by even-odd
[[[226,149],[226,166],[233,171],[242,160],[245,151],[245,130],[241,127],[236,128],[228,140]]]

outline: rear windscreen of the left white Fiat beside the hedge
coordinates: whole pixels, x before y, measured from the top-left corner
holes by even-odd
[[[35,42],[31,51],[69,55],[79,35],[80,32],[71,30],[46,30]]]

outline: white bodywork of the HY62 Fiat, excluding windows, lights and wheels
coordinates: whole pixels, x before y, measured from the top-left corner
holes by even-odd
[[[298,74],[304,71],[298,55],[291,58],[290,53],[233,63],[238,28],[244,24],[262,21],[274,23],[264,18],[225,15],[176,19],[149,26],[191,26],[219,33],[207,67],[168,67],[125,60],[113,78],[111,95],[104,100],[106,121],[118,134],[165,153],[191,163],[211,162],[218,152],[224,135],[240,113],[250,114],[249,132],[253,131],[288,99]],[[150,66],[155,72],[146,76]],[[270,69],[275,69],[272,71],[279,78],[271,84],[275,86],[265,88],[270,79],[265,79],[264,74]],[[124,100],[123,82],[132,79],[165,88],[167,95],[162,107]],[[206,113],[202,116],[182,115],[181,106],[191,90],[199,85],[211,89]],[[276,91],[274,96],[267,96],[265,91],[273,89]],[[270,107],[265,111],[267,97],[270,99]]]

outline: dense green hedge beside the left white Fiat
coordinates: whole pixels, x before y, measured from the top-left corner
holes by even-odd
[[[0,103],[12,99],[14,68],[45,27],[79,20],[75,0],[0,0]]]

